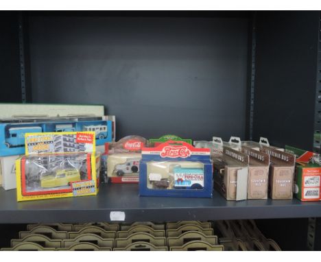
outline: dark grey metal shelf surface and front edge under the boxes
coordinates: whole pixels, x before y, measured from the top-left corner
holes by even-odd
[[[321,202],[299,200],[226,201],[213,198],[139,197],[137,184],[102,184],[97,196],[16,202],[16,191],[0,189],[0,223],[110,222],[111,211],[126,222],[208,219],[321,217]]]

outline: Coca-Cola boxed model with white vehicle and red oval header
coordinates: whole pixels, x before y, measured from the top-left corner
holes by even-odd
[[[146,146],[142,136],[126,136],[110,143],[107,156],[107,176],[112,183],[138,183],[141,148]]]

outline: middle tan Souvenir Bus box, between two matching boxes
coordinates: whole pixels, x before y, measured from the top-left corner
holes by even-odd
[[[268,198],[268,179],[270,156],[250,147],[242,147],[242,152],[249,156],[248,199]]]

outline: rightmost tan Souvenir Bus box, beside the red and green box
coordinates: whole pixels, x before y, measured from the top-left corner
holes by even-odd
[[[292,199],[296,156],[263,146],[262,152],[270,155],[270,198]]]

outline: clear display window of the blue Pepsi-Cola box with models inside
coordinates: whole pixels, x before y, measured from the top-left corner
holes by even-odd
[[[147,162],[147,188],[188,189],[204,188],[204,164],[193,161]]]

